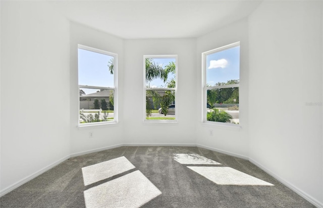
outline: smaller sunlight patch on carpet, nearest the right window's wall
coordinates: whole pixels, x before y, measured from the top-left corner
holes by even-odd
[[[221,163],[205,158],[198,154],[173,154],[173,159],[181,164],[221,165]]]

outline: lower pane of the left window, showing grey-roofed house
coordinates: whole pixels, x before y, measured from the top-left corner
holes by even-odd
[[[113,121],[114,90],[80,88],[79,109],[80,123]]]

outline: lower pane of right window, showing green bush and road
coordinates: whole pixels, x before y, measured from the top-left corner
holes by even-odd
[[[206,120],[239,124],[239,88],[206,90]]]

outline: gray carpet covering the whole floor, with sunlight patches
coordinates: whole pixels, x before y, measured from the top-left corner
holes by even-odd
[[[181,154],[208,163],[182,164],[175,160]],[[100,175],[113,163],[122,167]],[[233,172],[224,174],[228,169]],[[220,175],[201,175],[213,170]],[[241,174],[263,184],[235,185]],[[230,185],[223,182],[227,176]],[[315,207],[252,163],[196,147],[121,147],[74,157],[1,197],[0,207],[94,207],[96,198],[104,207]]]

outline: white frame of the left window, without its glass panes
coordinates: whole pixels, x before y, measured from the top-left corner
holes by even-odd
[[[91,123],[80,123],[80,94],[78,93],[78,126],[94,126],[94,125],[104,125],[104,124],[112,124],[112,123],[118,123],[118,54],[93,48],[90,46],[78,44],[77,49],[83,49],[83,50],[88,50],[91,52],[95,53],[101,53],[104,55],[109,55],[114,57],[114,87],[99,87],[99,86],[88,86],[88,85],[79,85],[79,81],[77,80],[78,83],[78,91],[80,88],[87,88],[87,89],[102,89],[102,90],[113,90],[114,91],[114,120],[113,121],[100,121],[100,122],[91,122]],[[78,53],[77,53],[78,54]],[[78,55],[77,55],[77,60],[78,60]],[[77,78],[79,77],[79,67],[77,67]]]

